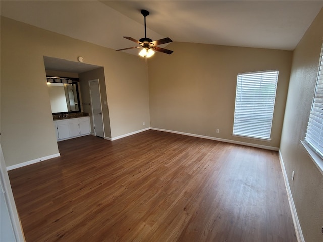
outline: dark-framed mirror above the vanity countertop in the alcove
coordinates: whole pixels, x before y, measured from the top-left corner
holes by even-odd
[[[80,112],[78,83],[47,82],[53,114]]]

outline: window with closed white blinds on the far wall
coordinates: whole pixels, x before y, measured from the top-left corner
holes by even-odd
[[[278,71],[240,73],[233,135],[270,140]]]

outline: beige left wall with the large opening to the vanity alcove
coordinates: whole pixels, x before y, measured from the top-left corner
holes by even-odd
[[[111,136],[149,127],[145,63],[137,56],[1,17],[1,145],[6,165],[57,154],[43,56],[104,67]]]

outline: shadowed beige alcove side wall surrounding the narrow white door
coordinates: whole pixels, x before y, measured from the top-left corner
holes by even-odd
[[[91,103],[90,90],[89,90],[89,81],[99,79],[100,84],[100,94],[101,94],[101,106],[102,106],[102,115],[104,123],[104,135],[105,137],[111,138],[110,130],[110,119],[109,119],[109,109],[107,106],[107,97],[106,97],[106,87],[105,87],[105,77],[104,77],[104,68],[100,67],[92,71],[83,72],[79,74],[80,79],[80,89],[83,103]],[[84,104],[82,105],[83,111],[89,113],[91,116],[91,130],[93,130],[93,119],[92,119],[92,110],[91,106]]]

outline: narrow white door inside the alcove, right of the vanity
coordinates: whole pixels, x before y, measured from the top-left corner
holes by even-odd
[[[103,116],[99,80],[89,81],[94,135],[104,138]]]

